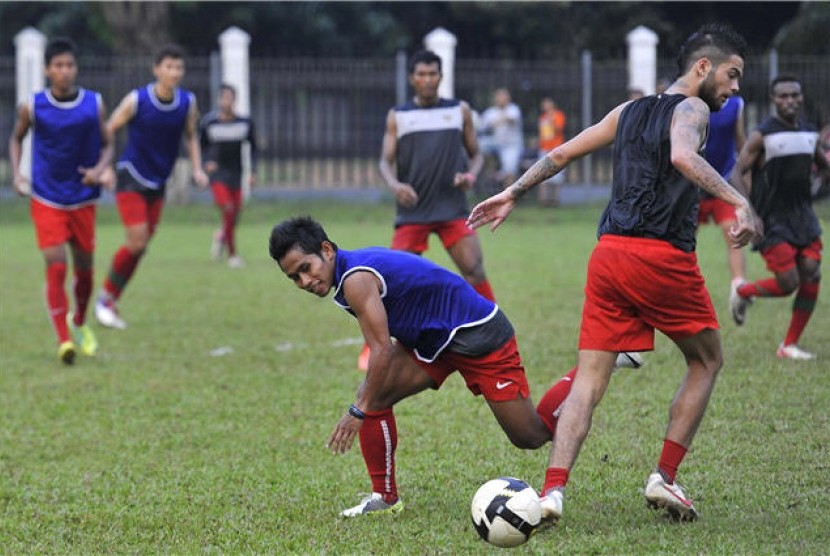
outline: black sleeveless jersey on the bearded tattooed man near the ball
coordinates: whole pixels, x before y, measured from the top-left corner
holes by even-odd
[[[672,166],[669,129],[684,95],[652,95],[626,106],[614,139],[611,200],[597,236],[613,234],[667,241],[695,250],[698,188]]]

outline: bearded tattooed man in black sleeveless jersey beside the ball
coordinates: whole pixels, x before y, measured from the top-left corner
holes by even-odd
[[[520,197],[572,161],[614,144],[611,200],[588,263],[579,335],[579,371],[562,407],[542,489],[542,515],[562,515],[565,485],[608,387],[617,352],[654,348],[654,330],[677,345],[686,375],[671,403],[657,467],[646,480],[649,506],[678,519],[697,509],[675,482],[723,364],[718,320],[695,256],[698,187],[737,209],[735,245],[757,237],[749,201],[699,154],[709,112],[738,92],[746,42],[707,25],[677,58],[679,75],[663,95],[625,102],[536,162],[516,183],[477,205],[468,223],[498,227]]]

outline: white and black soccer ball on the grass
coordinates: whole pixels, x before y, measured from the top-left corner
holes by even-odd
[[[539,495],[514,477],[499,477],[481,485],[470,512],[479,536],[502,548],[526,542],[542,520]]]

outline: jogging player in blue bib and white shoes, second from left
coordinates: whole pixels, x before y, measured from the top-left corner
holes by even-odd
[[[127,241],[112,259],[104,286],[95,304],[95,317],[104,326],[124,329],[116,303],[156,231],[164,204],[167,178],[179,155],[182,135],[193,178],[207,187],[199,148],[199,109],[193,93],[179,88],[184,77],[184,53],[169,45],[156,55],[156,78],[127,94],[107,122],[111,135],[129,124],[127,146],[116,164],[118,185],[115,200]]]

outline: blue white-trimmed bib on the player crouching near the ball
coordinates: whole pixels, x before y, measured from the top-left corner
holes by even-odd
[[[335,260],[334,302],[354,314],[343,294],[353,272],[371,272],[381,282],[389,334],[431,363],[462,328],[490,321],[498,306],[466,280],[428,259],[385,247],[339,249]]]

